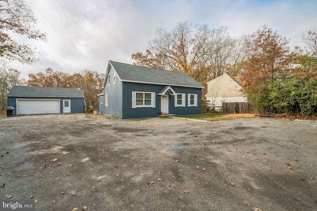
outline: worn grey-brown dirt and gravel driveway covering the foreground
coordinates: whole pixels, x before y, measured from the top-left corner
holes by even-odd
[[[0,199],[36,211],[317,209],[316,121],[1,118],[0,155]]]

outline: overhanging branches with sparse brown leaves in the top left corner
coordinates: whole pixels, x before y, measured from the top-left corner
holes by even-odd
[[[46,41],[46,34],[35,28],[36,23],[32,9],[23,0],[0,0],[0,56],[26,64],[36,63],[34,47],[10,36],[13,33],[25,39]]]

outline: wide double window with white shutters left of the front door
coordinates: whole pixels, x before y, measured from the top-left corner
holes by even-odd
[[[132,91],[132,108],[152,107],[155,108],[155,92]]]

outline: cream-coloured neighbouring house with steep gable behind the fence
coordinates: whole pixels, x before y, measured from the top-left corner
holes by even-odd
[[[248,102],[242,92],[242,86],[239,83],[240,76],[223,74],[210,82],[207,82],[206,100],[216,111],[220,110],[222,102]]]

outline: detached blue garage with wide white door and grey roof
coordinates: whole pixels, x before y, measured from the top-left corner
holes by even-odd
[[[7,94],[15,115],[84,113],[84,92],[77,88],[13,86]]]

